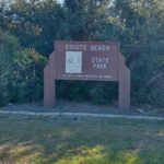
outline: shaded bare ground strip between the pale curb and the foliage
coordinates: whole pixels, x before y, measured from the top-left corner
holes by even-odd
[[[93,113],[93,114],[124,114],[124,115],[139,115],[139,116],[164,116],[164,108],[150,107],[132,107],[130,110],[121,110],[115,106],[109,105],[93,105],[91,103],[79,103],[59,99],[54,108],[45,108],[43,104],[23,104],[23,105],[8,105],[4,110],[13,112],[61,112],[61,113]]]

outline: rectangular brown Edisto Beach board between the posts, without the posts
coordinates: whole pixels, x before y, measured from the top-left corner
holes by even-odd
[[[117,81],[118,45],[56,42],[56,78],[60,80]]]

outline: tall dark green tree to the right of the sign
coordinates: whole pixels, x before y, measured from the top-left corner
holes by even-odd
[[[132,99],[137,104],[164,104],[163,9],[161,0],[115,1],[124,36],[129,37],[127,31],[131,34],[131,39],[120,43],[132,70]]]

